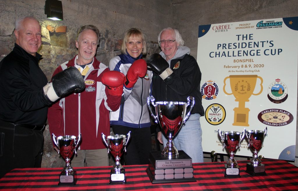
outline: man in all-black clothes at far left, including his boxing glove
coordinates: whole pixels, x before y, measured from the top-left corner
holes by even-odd
[[[85,88],[73,68],[47,83],[38,66],[41,26],[36,18],[19,18],[14,33],[15,47],[0,62],[0,178],[14,168],[41,167],[47,106]]]

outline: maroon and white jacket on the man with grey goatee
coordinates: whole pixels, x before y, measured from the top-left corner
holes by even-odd
[[[77,56],[58,66],[53,76],[69,66],[75,66]],[[108,67],[94,57],[84,77],[86,88],[60,98],[48,110],[49,130],[56,137],[82,135],[79,149],[103,149],[101,133],[110,135],[109,111],[119,108],[121,96],[111,96],[100,81],[100,75]]]

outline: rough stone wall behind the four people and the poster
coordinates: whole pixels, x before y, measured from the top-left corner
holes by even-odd
[[[139,28],[144,32],[148,55],[159,52],[157,35],[166,27],[177,28],[196,58],[198,26],[235,21],[297,16],[297,0],[62,0],[63,21],[52,21],[44,14],[44,0],[1,0],[0,60],[12,49],[16,18],[34,15],[42,26],[41,69],[50,79],[55,68],[77,53],[75,34],[86,24],[100,30],[96,57],[108,64],[120,54],[124,32]],[[60,167],[64,162],[53,150],[44,131],[43,167]],[[296,156],[297,156],[296,152]]]

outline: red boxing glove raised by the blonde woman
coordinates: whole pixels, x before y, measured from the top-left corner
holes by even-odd
[[[127,88],[134,87],[134,84],[139,77],[145,77],[147,73],[147,63],[143,59],[134,61],[129,67],[126,78],[124,79],[124,85]]]

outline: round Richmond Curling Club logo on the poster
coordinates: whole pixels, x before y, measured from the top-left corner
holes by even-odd
[[[267,97],[272,103],[283,103],[288,98],[288,88],[277,78],[269,85]]]

